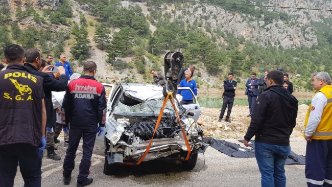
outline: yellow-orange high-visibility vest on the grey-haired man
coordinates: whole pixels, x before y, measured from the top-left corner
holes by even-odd
[[[326,85],[326,86],[322,87],[318,92],[324,93],[324,95],[327,98],[327,104],[323,110],[322,117],[316,128],[316,131],[312,134],[312,138],[313,139],[325,139],[325,140],[332,139],[332,118],[331,118],[332,117],[332,86]],[[313,98],[314,98],[314,96],[313,96]],[[305,116],[304,131],[308,124],[311,110],[312,110],[312,106],[310,104],[309,108],[306,112],[306,116]],[[303,137],[304,136],[305,135],[303,134]]]

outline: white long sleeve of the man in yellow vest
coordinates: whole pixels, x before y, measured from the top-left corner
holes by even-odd
[[[327,104],[327,98],[322,92],[318,92],[311,101],[311,112],[309,115],[308,124],[305,128],[304,134],[312,136],[316,131],[317,126],[322,118],[323,110]]]

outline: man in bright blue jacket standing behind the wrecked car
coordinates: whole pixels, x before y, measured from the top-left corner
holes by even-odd
[[[180,82],[179,87],[189,87],[193,90],[194,95],[197,96],[197,85],[196,85],[196,81],[193,78],[191,78],[192,72],[189,70],[186,70],[184,72],[184,75],[185,75],[185,79],[183,79]],[[181,92],[181,96],[182,96],[181,105],[194,103],[194,98],[193,98],[191,91],[178,90],[178,94],[180,92]]]

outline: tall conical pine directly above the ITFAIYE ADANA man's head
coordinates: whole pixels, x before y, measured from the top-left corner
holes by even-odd
[[[80,27],[78,33],[75,35],[76,43],[70,48],[70,53],[73,54],[75,59],[80,56],[87,58],[89,56],[89,49],[91,48],[90,40],[87,39],[88,31],[86,27]]]

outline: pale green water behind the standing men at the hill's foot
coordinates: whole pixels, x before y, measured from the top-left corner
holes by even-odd
[[[199,102],[199,105],[201,107],[207,107],[207,108],[221,108],[223,106],[223,99],[220,97],[215,96],[203,96],[203,97],[197,97],[197,100]],[[310,98],[300,98],[299,105],[306,104],[309,105],[311,103]],[[242,106],[248,106],[248,99],[243,98],[236,98],[234,100],[234,105],[242,105]],[[233,105],[233,106],[234,106]]]

